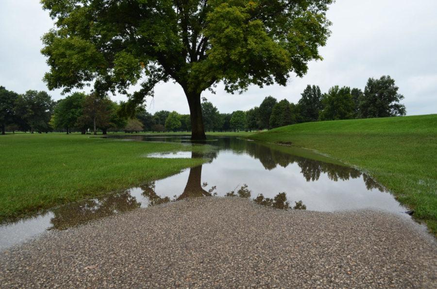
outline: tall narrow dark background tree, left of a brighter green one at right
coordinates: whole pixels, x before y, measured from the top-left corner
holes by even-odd
[[[319,112],[322,108],[321,99],[322,94],[319,86],[306,86],[298,102],[302,122],[319,120]]]

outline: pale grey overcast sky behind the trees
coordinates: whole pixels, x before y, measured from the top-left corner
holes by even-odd
[[[286,87],[251,87],[230,95],[204,92],[220,112],[248,110],[265,96],[297,102],[307,84],[326,92],[333,85],[364,89],[368,78],[390,75],[405,96],[407,114],[437,112],[437,1],[337,0],[329,12],[332,36],[320,49],[323,61],[311,62],[307,75],[291,78]],[[0,85],[24,93],[48,90],[42,81],[49,70],[40,54],[41,36],[53,23],[39,0],[0,0]],[[57,100],[59,90],[49,93]],[[111,96],[113,100],[125,99]],[[148,99],[148,111],[188,113],[181,87],[163,83]]]

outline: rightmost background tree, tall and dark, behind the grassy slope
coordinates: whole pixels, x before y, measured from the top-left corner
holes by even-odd
[[[405,106],[399,103],[403,95],[398,94],[398,89],[390,76],[382,76],[379,80],[370,78],[359,101],[360,117],[405,115]]]

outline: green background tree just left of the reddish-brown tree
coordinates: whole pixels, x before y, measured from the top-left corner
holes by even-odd
[[[70,129],[77,126],[77,120],[83,113],[82,109],[84,100],[85,94],[78,92],[59,100],[54,108],[52,116],[53,121],[51,124],[54,128],[65,128],[68,134]],[[85,133],[84,128],[82,129],[82,132]]]

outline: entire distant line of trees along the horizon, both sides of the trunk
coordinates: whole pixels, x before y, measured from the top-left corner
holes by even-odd
[[[272,96],[248,111],[220,113],[206,98],[202,99],[202,115],[207,131],[240,131],[277,128],[291,124],[319,120],[340,120],[405,115],[399,102],[403,96],[390,76],[370,78],[364,91],[347,86],[331,87],[322,93],[319,86],[308,85],[297,104],[286,99],[277,101]],[[119,113],[119,104],[107,96],[73,93],[53,101],[44,91],[29,90],[23,95],[0,87],[0,125],[5,130],[48,132],[62,130],[67,133],[94,134],[108,131],[191,131],[189,114],[159,111],[151,114],[137,108],[130,117]]]

